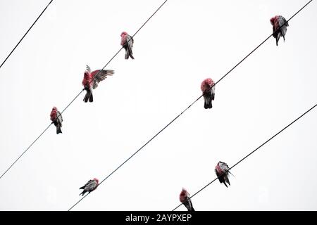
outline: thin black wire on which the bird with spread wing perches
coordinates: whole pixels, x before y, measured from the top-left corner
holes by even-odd
[[[53,0],[52,0],[52,1],[53,1]],[[166,0],[166,1],[168,1],[168,0]],[[164,1],[163,4],[161,4],[161,6],[159,6],[159,8],[147,19],[147,21],[139,28],[139,30],[141,30],[141,28],[144,27],[144,25],[145,25],[147,22],[149,22],[149,20],[154,16],[154,14],[155,14],[157,11],[159,11],[159,9],[160,9],[164,4],[166,4],[166,1]],[[139,32],[139,30],[137,30],[137,32]],[[137,32],[135,32],[135,34],[137,34]],[[132,37],[135,37],[135,34],[133,34]],[[132,40],[132,39],[129,39],[129,40],[128,40],[128,43],[129,43],[129,41],[131,41],[131,40]],[[127,44],[128,44],[128,43],[127,43]],[[101,70],[104,70],[104,68],[106,68],[106,66],[113,60],[113,58],[115,58],[115,57],[118,55],[118,53],[119,53],[122,49],[123,49],[123,46],[122,46],[121,49],[120,49],[119,51],[117,51],[117,53],[108,61],[108,63],[106,63],[106,65],[104,65],[104,67],[103,67]],[[99,73],[101,72],[101,70],[99,70],[99,72],[97,72],[97,74],[94,76],[94,79],[97,77],[97,75],[99,75]],[[94,79],[92,79],[92,80],[89,82],[89,84],[91,84],[91,83],[94,81]],[[88,85],[89,85],[89,84],[88,84]],[[78,96],[80,96],[80,94],[82,94],[82,91],[85,91],[85,89],[82,89],[82,90],[80,91],[80,93],[78,93],[78,94],[75,96],[75,98],[73,98],[73,100],[70,101],[70,103],[66,106],[66,108],[64,108],[63,111],[61,111],[61,115],[62,115],[62,113],[73,103],[73,101],[75,101],[76,98],[78,98]],[[55,120],[57,120],[57,118],[56,118]],[[53,123],[53,122],[51,122],[51,124],[52,124],[52,123]],[[51,124],[49,124],[49,127],[51,126]],[[42,132],[42,134],[44,134],[44,132],[45,132],[47,129],[49,129],[49,127],[46,127],[46,129],[44,129],[44,131]],[[37,137],[37,139],[35,139],[35,141],[37,141],[37,140],[39,139],[39,137],[42,136],[42,134],[40,134],[40,135]],[[29,147],[27,147],[27,149],[18,157],[18,159],[15,160],[15,161],[13,162],[13,164],[12,164],[10,167],[8,167],[8,169],[6,169],[6,172],[8,172],[8,170],[11,169],[11,167],[15,164],[15,162],[17,162],[17,161],[21,158],[21,156],[22,156],[27,150],[29,150],[29,148],[35,143],[35,141],[33,141],[33,142],[31,143],[31,145],[30,145]],[[4,174],[6,174],[6,172],[4,172]],[[2,176],[4,176],[4,174],[2,174],[2,175],[0,176],[0,179],[1,179]]]

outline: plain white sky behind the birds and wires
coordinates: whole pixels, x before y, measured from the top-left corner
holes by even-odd
[[[0,0],[0,60],[49,2]],[[82,89],[85,65],[102,68],[163,0],[55,0],[0,69],[0,173]],[[0,179],[0,210],[68,210],[80,186],[104,179],[306,1],[169,0],[107,66],[94,103],[84,93]],[[317,6],[271,37],[216,85],[212,110],[200,99],[73,210],[173,210],[317,101]],[[317,111],[192,198],[195,210],[317,210]],[[186,210],[184,206],[178,210]]]

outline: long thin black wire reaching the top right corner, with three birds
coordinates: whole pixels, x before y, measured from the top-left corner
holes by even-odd
[[[313,1],[313,0],[311,0],[311,1]],[[299,13],[300,11],[302,11],[302,9],[303,8],[305,8],[309,3],[311,3],[311,1],[309,1],[305,6],[303,6],[299,11],[297,11],[297,13]],[[165,2],[164,2],[164,4],[165,4]],[[161,8],[161,7],[160,7]],[[297,13],[295,13],[294,15],[297,15]],[[293,17],[294,17],[294,15],[292,15],[292,17],[289,19],[289,20],[287,20],[287,22],[288,21],[290,21]],[[284,25],[286,25],[287,23],[284,23],[282,26],[284,26]],[[282,27],[281,26],[281,27]],[[279,30],[276,30],[275,32],[278,32]],[[274,33],[275,33],[274,32]],[[273,33],[273,34],[274,34]],[[264,44],[264,42],[266,42],[273,34],[271,34],[270,36],[268,36],[264,41],[262,41],[262,43],[261,44],[259,44],[259,46],[256,46],[256,48],[254,49],[254,50],[252,50],[247,56],[245,56],[242,60],[240,60],[240,62],[239,63],[237,63],[237,65],[235,65],[231,70],[229,70],[225,75],[223,75],[223,77],[221,77],[219,80],[218,80],[218,82],[220,82],[220,80],[222,80],[223,78],[225,78],[232,70],[234,70],[238,65],[240,65],[240,63],[242,63],[247,57],[249,57],[250,55],[251,55],[251,53],[253,53],[254,51],[256,51],[256,49],[259,49],[259,47],[262,45],[262,44]],[[213,86],[215,86],[216,84],[218,84],[218,82],[216,82],[215,84],[213,84]],[[211,86],[211,88],[213,87],[213,86]],[[149,143],[149,142],[151,142],[156,136],[158,136],[164,129],[166,129],[166,127],[168,127],[170,124],[172,124],[175,120],[177,120],[178,119],[178,117],[180,117],[180,115],[182,115],[183,113],[185,113],[185,111],[186,110],[188,110],[192,105],[194,105],[194,103],[196,103],[202,96],[204,96],[204,94],[201,94],[201,96],[199,96],[199,98],[197,98],[192,104],[190,104],[187,108],[185,108],[185,110],[183,110],[182,111],[182,113],[180,113],[177,117],[175,117],[172,121],[170,121],[165,127],[163,127],[163,129],[161,129],[158,133],[156,133],[151,139],[149,139],[149,141],[147,141],[147,143],[145,143],[141,148],[139,148],[135,153],[133,153],[127,160],[125,160],[125,162],[128,162],[128,160],[130,160],[130,158],[132,158],[134,155],[136,155],[140,150],[142,150],[142,148],[144,148],[145,146],[147,146],[147,144]],[[100,184],[102,183],[102,182],[104,182],[106,179],[108,179],[108,177],[109,176],[111,176],[114,172],[116,172],[120,167],[122,167],[124,164],[125,164],[125,162],[123,162],[120,166],[118,166],[115,170],[113,170],[113,172],[111,172],[111,174],[109,174],[108,176],[106,176],[106,178],[104,179],[104,180],[102,180],[101,182],[100,182]],[[99,184],[99,185],[100,185]],[[88,195],[88,194],[87,194]],[[80,203],[80,201],[82,200],[82,199],[84,199],[84,198],[86,198],[86,196],[87,195],[85,195],[84,197],[82,197],[82,198],[80,198],[80,200],[78,200],[77,201],[77,203],[75,203],[75,205],[77,205],[78,203]],[[68,210],[68,211],[70,211],[71,209],[73,209],[73,207],[75,207],[75,205],[73,205],[72,207],[70,207],[70,209]]]

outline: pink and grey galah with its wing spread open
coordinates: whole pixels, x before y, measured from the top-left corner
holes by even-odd
[[[91,72],[89,65],[86,65],[86,66],[87,66],[87,70],[85,71],[84,79],[82,79],[82,85],[84,86],[84,89],[87,92],[83,101],[87,103],[87,101],[89,100],[89,102],[92,103],[94,101],[94,98],[92,96],[92,89],[96,89],[99,82],[106,79],[107,76],[112,76],[114,74],[114,71],[113,70],[94,70],[93,72]]]

